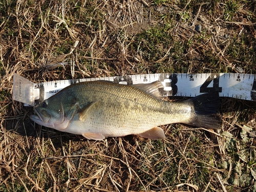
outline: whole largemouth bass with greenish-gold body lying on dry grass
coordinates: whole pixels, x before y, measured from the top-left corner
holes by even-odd
[[[185,123],[219,129],[219,94],[203,94],[182,102],[160,99],[160,81],[128,86],[110,81],[72,84],[34,107],[30,118],[43,126],[87,139],[138,135],[164,139],[159,127]]]

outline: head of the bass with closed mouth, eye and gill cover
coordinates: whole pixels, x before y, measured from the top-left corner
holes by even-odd
[[[79,102],[70,93],[53,95],[34,107],[30,119],[56,130],[65,130],[79,108]]]

